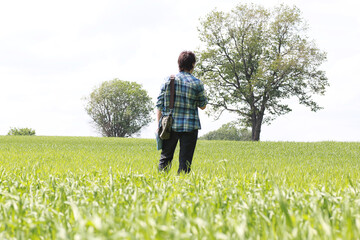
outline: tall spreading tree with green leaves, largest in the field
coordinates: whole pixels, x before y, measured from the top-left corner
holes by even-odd
[[[261,126],[291,108],[284,99],[296,97],[317,111],[314,94],[329,85],[319,66],[326,53],[306,35],[297,7],[238,5],[231,12],[212,11],[198,28],[203,47],[197,52],[197,74],[208,88],[210,109],[238,114],[260,140]]]

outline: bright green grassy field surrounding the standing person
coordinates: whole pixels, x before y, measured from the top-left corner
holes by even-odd
[[[0,239],[360,239],[360,143],[0,136]]]

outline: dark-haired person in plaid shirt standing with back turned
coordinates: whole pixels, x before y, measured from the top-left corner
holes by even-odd
[[[171,167],[177,142],[180,141],[179,169],[189,173],[197,142],[198,130],[201,129],[198,108],[204,110],[207,104],[203,83],[192,73],[196,63],[195,54],[191,51],[180,53],[178,59],[179,73],[175,76],[175,101],[173,124],[170,139],[163,140],[159,170],[166,171]],[[157,122],[163,115],[168,115],[170,102],[170,77],[161,87],[157,98]]]

